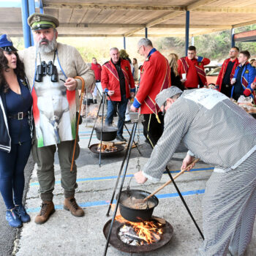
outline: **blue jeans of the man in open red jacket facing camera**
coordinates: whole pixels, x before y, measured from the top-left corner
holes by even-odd
[[[106,125],[112,124],[113,116],[117,108],[119,113],[118,124],[117,124],[117,127],[118,127],[117,135],[119,136],[123,134],[124,117],[125,117],[125,111],[127,110],[127,103],[128,103],[128,99],[126,98],[126,95],[121,96],[121,102],[113,102],[111,100],[108,100],[108,113],[105,120],[105,124]]]

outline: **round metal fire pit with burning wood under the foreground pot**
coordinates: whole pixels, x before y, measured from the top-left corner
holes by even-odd
[[[111,219],[103,233],[108,238]],[[117,216],[113,223],[110,244],[121,252],[151,252],[164,246],[173,236],[173,227],[165,219],[152,217],[149,222],[128,222]]]

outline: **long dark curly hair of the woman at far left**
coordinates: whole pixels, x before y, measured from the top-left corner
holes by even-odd
[[[20,61],[18,53],[15,52],[15,55],[17,56],[17,67],[14,69],[14,72],[18,76],[18,78],[24,80],[25,79],[24,64],[22,61]],[[0,91],[4,91],[4,93],[7,93],[10,87],[4,78],[4,71],[7,71],[7,69],[9,69],[8,61],[7,61],[7,58],[4,56],[4,50],[0,48]]]

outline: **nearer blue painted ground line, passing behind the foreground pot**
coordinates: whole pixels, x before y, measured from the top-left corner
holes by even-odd
[[[197,189],[197,190],[190,190],[190,191],[185,191],[181,192],[181,195],[183,196],[189,196],[189,195],[200,195],[205,192],[205,189]],[[171,197],[178,197],[178,193],[168,193],[168,194],[160,194],[157,195],[158,199],[166,199],[166,198],[171,198]],[[108,206],[110,203],[110,200],[101,200],[101,201],[93,201],[93,202],[86,202],[86,203],[78,203],[80,207],[83,208],[89,208],[89,207],[97,207],[97,206]],[[116,203],[116,200],[113,200],[113,203]],[[63,205],[56,205],[55,206],[56,210],[63,210]],[[27,212],[39,212],[40,207],[37,208],[28,208],[26,210]]]

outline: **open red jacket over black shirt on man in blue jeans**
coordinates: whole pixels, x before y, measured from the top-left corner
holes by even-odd
[[[135,92],[135,80],[132,77],[131,65],[129,61],[121,59],[121,69],[125,78],[125,90],[127,99],[130,97],[130,91]],[[103,91],[115,91],[111,96],[113,101],[121,101],[120,82],[118,78],[118,72],[112,61],[108,61],[102,65],[102,89]]]

